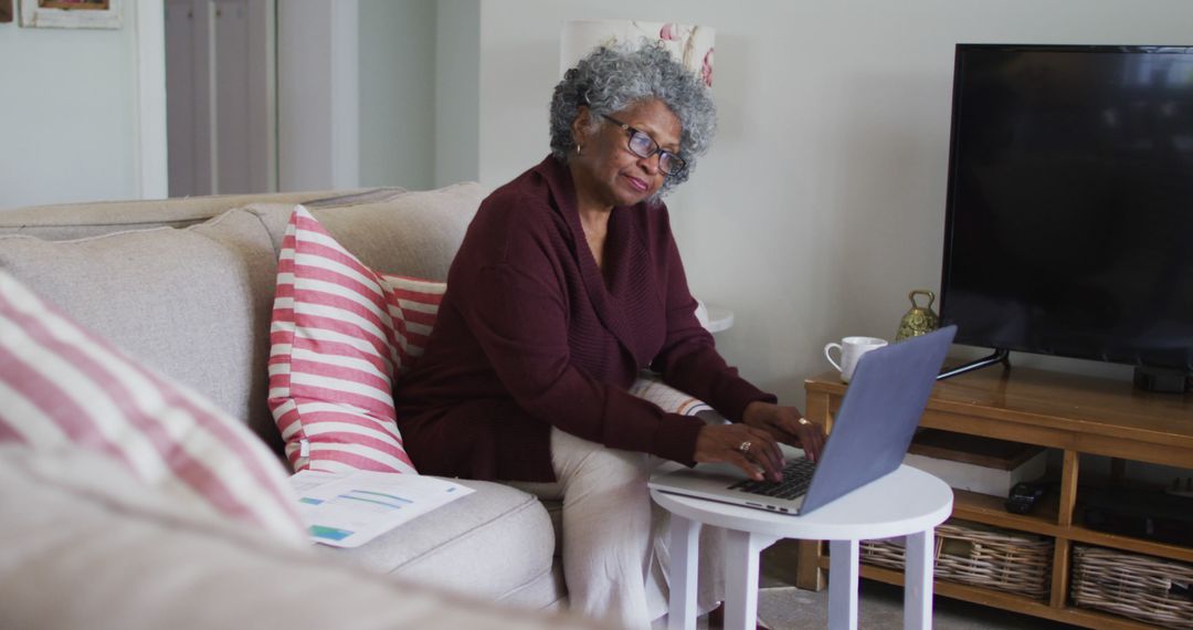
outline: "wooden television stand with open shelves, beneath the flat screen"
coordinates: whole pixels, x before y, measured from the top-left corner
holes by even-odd
[[[835,372],[805,382],[806,415],[832,430],[846,385]],[[953,517],[1055,541],[1051,597],[1036,600],[1013,593],[938,580],[944,597],[1053,619],[1086,628],[1155,628],[1112,613],[1075,607],[1069,601],[1074,544],[1100,545],[1179,562],[1193,562],[1193,548],[1144,541],[1084,527],[1077,508],[1081,455],[1188,468],[1193,462],[1193,396],[1148,394],[1130,383],[1039,370],[991,368],[939,382],[920,426],[1061,450],[1058,493],[1031,514],[1006,511],[1002,496],[954,490]],[[822,588],[829,563],[823,545],[803,542],[797,581]],[[863,564],[864,578],[902,585],[903,575]]]

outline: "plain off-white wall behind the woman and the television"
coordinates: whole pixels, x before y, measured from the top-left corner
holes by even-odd
[[[718,335],[722,352],[797,404],[803,379],[828,368],[827,341],[894,338],[908,291],[939,289],[954,43],[1189,44],[1193,32],[1193,2],[1182,0],[480,6],[478,173],[489,186],[548,153],[563,20],[717,30],[719,136],[668,205],[693,291],[736,314],[735,327]]]

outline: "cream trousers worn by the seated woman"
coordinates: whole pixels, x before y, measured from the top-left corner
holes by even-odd
[[[551,428],[558,481],[511,482],[542,499],[563,499],[563,578],[571,610],[624,628],[650,628],[667,614],[669,514],[654,505],[647,480],[667,459]],[[697,605],[724,599],[724,530],[700,531]]]

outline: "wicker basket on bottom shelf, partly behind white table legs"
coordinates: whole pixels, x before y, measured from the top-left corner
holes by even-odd
[[[902,539],[861,543],[861,561],[903,570]],[[1049,593],[1052,539],[977,523],[950,520],[937,527],[935,576],[1034,599]]]

